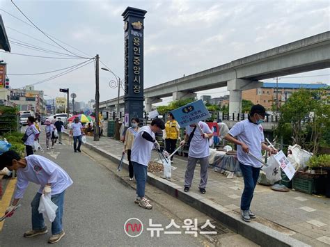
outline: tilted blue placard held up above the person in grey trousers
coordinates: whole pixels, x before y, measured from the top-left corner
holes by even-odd
[[[210,113],[202,99],[181,106],[178,109],[171,111],[175,120],[178,121],[180,127],[186,127],[199,121],[210,118]]]

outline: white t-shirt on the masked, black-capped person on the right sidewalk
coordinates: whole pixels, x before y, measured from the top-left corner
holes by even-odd
[[[238,141],[245,143],[249,147],[251,154],[262,159],[261,143],[265,141],[265,137],[261,125],[256,125],[253,122],[250,122],[249,119],[246,119],[237,122],[237,124],[230,129],[229,134],[236,137]],[[244,152],[241,145],[237,145],[237,159],[240,163],[246,166],[257,168],[262,166],[260,161]]]

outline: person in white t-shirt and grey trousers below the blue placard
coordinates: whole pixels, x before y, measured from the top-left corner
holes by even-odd
[[[184,140],[180,143],[180,145],[187,143],[190,136],[191,142],[189,145],[188,164],[186,173],[184,174],[184,192],[188,192],[191,187],[195,167],[197,161],[199,160],[199,163],[201,164],[201,181],[199,182],[198,188],[202,194],[205,194],[207,184],[207,168],[209,166],[210,156],[209,139],[212,138],[213,133],[205,122],[200,121],[198,122],[198,125],[201,127],[203,134],[201,134],[201,130],[196,126],[196,124],[189,125],[186,127],[186,135],[184,136]]]

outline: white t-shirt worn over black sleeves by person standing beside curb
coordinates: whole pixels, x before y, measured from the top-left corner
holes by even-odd
[[[143,166],[148,166],[148,162],[151,158],[151,150],[154,146],[154,143],[143,138],[143,132],[147,132],[150,134],[150,136],[152,136],[152,138],[155,139],[155,133],[151,131],[150,126],[141,127],[134,138],[131,160]]]

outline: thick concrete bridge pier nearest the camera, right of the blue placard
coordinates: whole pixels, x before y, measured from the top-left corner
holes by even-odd
[[[242,113],[242,90],[261,88],[261,81],[233,79],[227,82],[229,91],[229,114]]]

